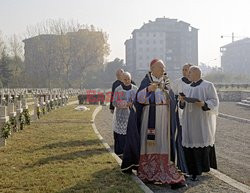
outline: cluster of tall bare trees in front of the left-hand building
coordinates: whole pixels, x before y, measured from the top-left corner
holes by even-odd
[[[64,20],[46,20],[27,28],[26,70],[36,85],[71,87],[83,81],[86,69],[103,67],[109,54],[108,36],[96,28]]]

